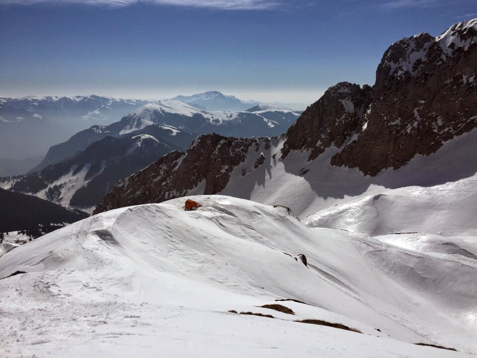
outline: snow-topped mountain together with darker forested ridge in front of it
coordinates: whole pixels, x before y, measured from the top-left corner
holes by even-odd
[[[91,210],[118,180],[171,151],[185,151],[199,134],[278,135],[300,113],[269,104],[240,112],[208,111],[177,100],[147,103],[120,121],[93,125],[52,146],[30,174],[0,178],[0,187]]]

